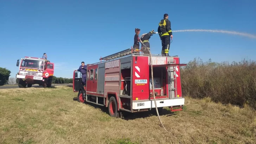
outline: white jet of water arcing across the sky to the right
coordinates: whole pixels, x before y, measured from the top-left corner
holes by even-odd
[[[228,33],[228,34],[235,34],[235,35],[242,35],[249,38],[256,39],[256,35],[249,34],[249,33],[241,33],[235,31],[223,31],[223,30],[178,30],[173,32],[217,32],[217,33]]]

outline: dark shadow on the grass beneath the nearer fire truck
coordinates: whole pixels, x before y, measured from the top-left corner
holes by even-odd
[[[77,101],[77,97],[74,97],[73,101]],[[95,109],[98,108],[102,112],[107,113],[109,115],[108,107],[100,106],[100,105],[93,104],[93,103],[85,103],[85,104],[87,104],[89,106],[92,106]],[[127,111],[122,111],[122,114],[123,114],[122,119],[124,119],[124,120],[135,120],[137,118],[147,118],[147,117],[151,117],[151,116],[157,116],[157,113],[156,113],[155,109],[152,109],[150,111],[141,111],[141,112],[134,112],[134,113],[127,112]],[[169,117],[169,116],[173,116],[173,115],[176,115],[176,113],[171,112],[170,110],[167,110],[167,109],[163,109],[161,113],[159,112],[159,116]]]

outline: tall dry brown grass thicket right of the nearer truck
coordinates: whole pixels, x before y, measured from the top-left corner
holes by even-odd
[[[256,62],[216,63],[194,59],[181,69],[183,94],[256,109]]]

